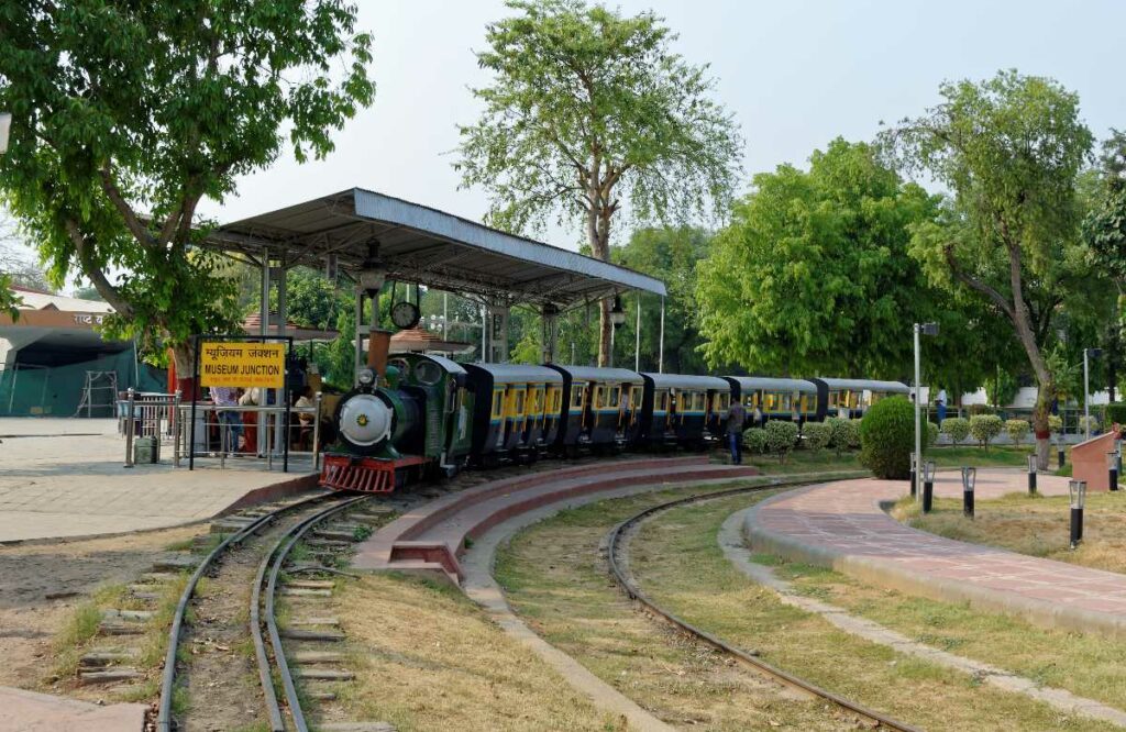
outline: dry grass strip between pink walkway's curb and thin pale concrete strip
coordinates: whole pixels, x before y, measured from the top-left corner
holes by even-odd
[[[756,556],[804,595],[843,607],[932,648],[1126,708],[1126,642],[1039,628],[966,604],[910,597],[819,566]]]

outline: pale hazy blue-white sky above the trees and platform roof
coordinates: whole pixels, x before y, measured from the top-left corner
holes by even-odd
[[[610,3],[611,7],[614,3]],[[458,189],[456,125],[479,107],[470,88],[488,81],[474,50],[485,25],[510,14],[493,0],[358,0],[374,35],[375,101],[334,136],[322,161],[279,159],[240,181],[236,196],[206,202],[221,222],[351,187],[370,188],[480,220],[483,190]],[[935,105],[944,80],[981,80],[999,69],[1053,77],[1078,91],[1097,137],[1126,127],[1121,48],[1126,2],[944,0],[628,0],[679,34],[674,50],[709,64],[715,98],[745,141],[744,188],[756,172],[804,166],[830,140],[870,140]],[[577,249],[571,230],[545,233]]]

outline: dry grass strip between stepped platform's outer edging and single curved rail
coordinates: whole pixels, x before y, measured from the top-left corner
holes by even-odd
[[[510,602],[548,642],[670,724],[842,729],[846,723],[835,709],[794,698],[638,614],[607,575],[598,545],[608,528],[646,505],[686,492],[565,511],[513,538],[498,557],[498,580]]]

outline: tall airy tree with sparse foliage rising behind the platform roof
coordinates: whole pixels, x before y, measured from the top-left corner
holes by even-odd
[[[582,222],[610,258],[623,202],[638,220],[723,211],[738,178],[735,123],[709,95],[707,66],[671,51],[652,12],[624,17],[583,0],[510,0],[520,15],[490,25],[477,61],[493,74],[474,89],[480,120],[459,127],[463,185],[483,185],[488,218],[542,230],[553,215]],[[600,303],[599,364],[610,302]]]

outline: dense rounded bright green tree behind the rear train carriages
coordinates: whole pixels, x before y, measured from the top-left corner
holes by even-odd
[[[699,266],[707,361],[770,375],[904,378],[910,324],[937,321],[928,375],[971,386],[994,363],[986,348],[1003,355],[1006,339],[981,345],[984,309],[930,287],[908,255],[910,227],[937,209],[866,143],[837,139],[813,152],[807,171],[783,164],[757,175]]]

